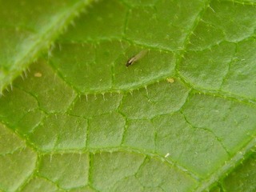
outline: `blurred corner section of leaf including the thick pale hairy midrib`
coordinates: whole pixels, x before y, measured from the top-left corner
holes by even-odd
[[[84,11],[85,1],[0,1],[0,92]],[[22,74],[22,72],[24,74]]]

